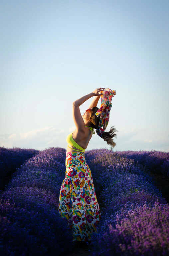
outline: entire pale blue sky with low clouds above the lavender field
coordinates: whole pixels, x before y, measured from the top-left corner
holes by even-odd
[[[2,0],[0,146],[66,148],[72,102],[108,87],[114,151],[169,151],[168,13],[166,0]],[[93,148],[110,146],[94,135]]]

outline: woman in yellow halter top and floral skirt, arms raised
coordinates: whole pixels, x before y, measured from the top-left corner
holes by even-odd
[[[113,134],[115,129],[111,127],[109,132],[104,132],[99,126],[104,123],[104,119],[99,117],[101,112],[99,116],[95,115],[99,111],[96,106],[100,95],[103,95],[102,91],[104,93],[104,88],[95,89],[92,93],[73,102],[73,120],[76,129],[66,138],[68,143],[66,177],[60,190],[59,212],[63,218],[67,219],[73,231],[73,241],[91,240],[91,233],[97,232],[96,227],[101,218],[91,171],[85,160],[85,149],[94,134],[93,128],[109,145],[115,146],[112,140],[112,137],[116,136]],[[95,97],[89,108],[81,115],[79,107],[93,96]]]

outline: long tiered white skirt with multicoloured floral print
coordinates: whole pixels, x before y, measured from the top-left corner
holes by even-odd
[[[89,241],[91,233],[97,232],[101,214],[85,153],[66,154],[66,176],[60,190],[59,213],[67,219],[73,241]]]

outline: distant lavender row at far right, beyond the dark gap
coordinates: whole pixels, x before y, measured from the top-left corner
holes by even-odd
[[[134,159],[149,170],[169,177],[169,152],[161,151],[116,151],[119,156]]]

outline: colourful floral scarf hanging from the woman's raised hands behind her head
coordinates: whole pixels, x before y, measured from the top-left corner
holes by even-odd
[[[110,110],[112,107],[111,100],[112,100],[112,97],[116,95],[116,91],[111,90],[109,88],[105,88],[104,91],[101,91],[100,93],[103,93],[103,95],[101,95],[101,106],[97,110],[95,115],[100,117],[98,129],[96,130],[96,133],[101,137],[102,133],[104,133],[108,125]]]

